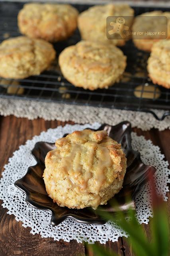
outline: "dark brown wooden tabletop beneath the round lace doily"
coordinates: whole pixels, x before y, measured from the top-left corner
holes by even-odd
[[[68,122],[73,124],[72,122]],[[55,128],[58,125],[64,126],[64,122],[45,121],[43,119],[27,120],[26,118],[16,118],[14,116],[0,116],[0,170],[3,171],[4,164],[8,163],[8,158],[26,140],[34,135],[46,131],[48,128]],[[138,135],[144,135],[146,139],[152,140],[158,145],[166,160],[170,163],[170,131],[159,132],[152,129],[143,132],[134,128]],[[2,204],[2,201],[0,200]],[[167,202],[170,209],[170,200]],[[94,256],[84,244],[78,244],[75,240],[57,242],[52,238],[41,238],[39,234],[30,233],[30,228],[24,228],[21,222],[15,220],[14,215],[6,214],[8,210],[0,205],[0,256]],[[144,225],[146,232],[149,226]],[[118,242],[107,242],[109,250],[114,250],[121,256],[133,256],[130,246],[125,238],[119,238]],[[96,255],[97,256],[97,255]]]

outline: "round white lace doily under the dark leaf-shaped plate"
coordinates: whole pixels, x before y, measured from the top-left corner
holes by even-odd
[[[87,241],[93,243],[99,241],[106,243],[107,240],[117,241],[119,236],[127,236],[123,230],[120,230],[115,224],[107,222],[104,225],[80,224],[74,220],[64,220],[58,226],[50,224],[51,214],[47,211],[37,210],[25,202],[25,194],[14,186],[14,182],[21,178],[27,168],[35,164],[31,155],[31,150],[38,141],[55,142],[57,138],[65,133],[71,133],[74,130],[84,128],[98,128],[100,124],[93,125],[66,125],[58,126],[55,129],[49,129],[47,132],[41,132],[39,136],[28,140],[25,145],[20,146],[19,150],[14,152],[9,163],[5,166],[0,180],[0,198],[4,201],[2,206],[8,208],[8,214],[14,214],[16,220],[22,221],[24,227],[31,227],[32,234],[41,234],[42,237],[53,237],[54,240],[63,239],[69,242],[76,239],[78,242]],[[141,152],[141,159],[145,164],[153,165],[156,168],[156,188],[159,193],[167,200],[168,191],[168,162],[164,161],[164,155],[160,153],[160,148],[154,146],[150,140],[145,140],[143,136],[137,136],[132,132],[132,146],[135,150]],[[149,216],[152,215],[149,199],[149,187],[145,185],[136,198],[137,218],[139,223],[148,223]]]

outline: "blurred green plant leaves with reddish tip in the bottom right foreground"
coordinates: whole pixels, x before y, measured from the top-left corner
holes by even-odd
[[[153,183],[153,184],[152,184]],[[169,222],[168,212],[166,211],[165,203],[162,198],[157,195],[154,182],[151,182],[151,196],[153,205],[154,217],[150,221],[150,235],[145,234],[145,230],[142,225],[139,224],[135,216],[135,211],[129,209],[126,215],[123,212],[117,214],[99,211],[98,214],[102,216],[106,221],[111,220],[117,226],[122,228],[129,237],[127,241],[131,244],[135,255],[137,256],[168,256],[169,252]],[[118,204],[115,202],[118,209]],[[115,206],[114,205],[114,206]],[[104,251],[100,250],[104,253]],[[97,254],[106,255],[110,254]],[[114,254],[111,254],[114,255]]]

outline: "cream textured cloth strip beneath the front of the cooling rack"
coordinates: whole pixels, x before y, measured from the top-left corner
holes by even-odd
[[[154,110],[154,112],[157,116],[163,114],[162,110]],[[44,120],[60,120],[62,122],[73,121],[77,124],[93,124],[100,120],[101,123],[115,125],[117,120],[121,122],[127,119],[131,122],[132,127],[141,128],[143,131],[151,128],[157,128],[159,131],[170,129],[170,116],[158,121],[151,113],[34,100],[0,99],[0,114],[3,116],[14,115],[29,120],[43,118]]]

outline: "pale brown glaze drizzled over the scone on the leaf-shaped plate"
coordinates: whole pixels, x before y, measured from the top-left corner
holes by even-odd
[[[54,163],[58,162],[59,158],[61,159],[60,168],[66,174],[70,187],[72,189],[79,188],[82,191],[82,195],[89,194],[88,181],[91,178],[93,179],[92,182],[96,191],[92,194],[97,207],[100,204],[99,192],[106,180],[105,170],[112,165],[109,150],[96,142],[88,141],[83,143],[82,140],[87,141],[87,135],[81,132],[76,132],[73,138],[79,141],[80,144],[72,143],[68,156],[61,156],[58,150],[51,151],[57,157]],[[58,140],[57,142],[59,145],[61,143],[63,146],[67,146],[69,143],[65,140],[64,142],[63,140],[61,142]],[[57,143],[56,146],[58,146]],[[78,176],[83,180],[81,184],[78,180],[76,182],[76,177]],[[67,198],[67,193],[68,188],[65,188],[62,193],[64,202]]]

